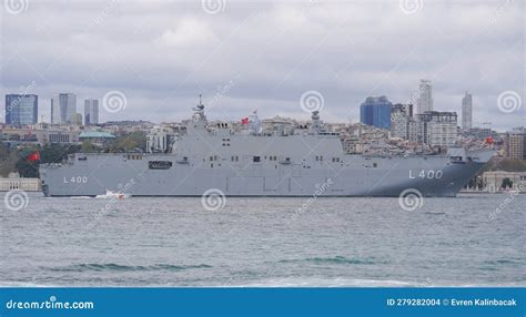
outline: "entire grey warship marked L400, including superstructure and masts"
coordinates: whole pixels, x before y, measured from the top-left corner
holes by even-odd
[[[293,133],[264,134],[210,124],[193,108],[186,132],[169,153],[75,153],[41,164],[45,196],[456,196],[494,155],[493,150],[451,147],[447,154],[346,153],[337,133],[313,112]]]

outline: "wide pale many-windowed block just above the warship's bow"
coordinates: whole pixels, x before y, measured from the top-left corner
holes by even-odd
[[[417,114],[418,141],[431,146],[452,146],[458,137],[456,112],[428,111]]]

